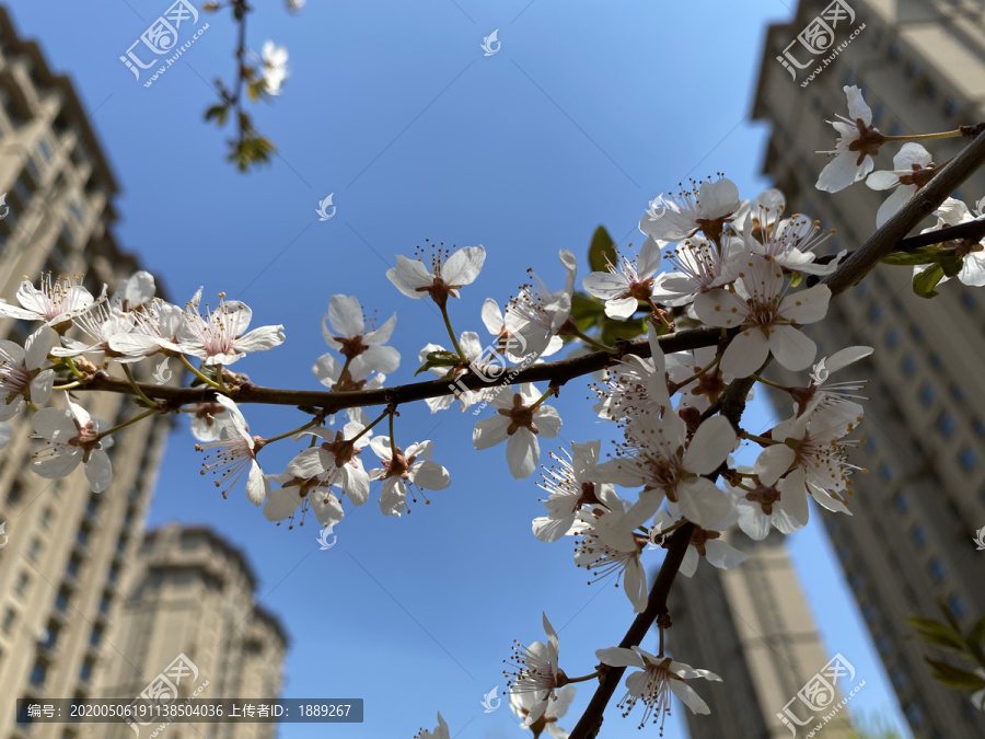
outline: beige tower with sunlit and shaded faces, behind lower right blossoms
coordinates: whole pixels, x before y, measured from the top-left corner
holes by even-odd
[[[799,720],[814,716],[804,730],[822,724],[826,739],[847,739],[848,712],[835,713],[830,693],[816,700],[830,704],[824,711],[798,700],[834,655],[821,644],[784,536],[774,531],[756,542],[733,529],[725,538],[745,562],[731,570],[700,562],[694,577],[674,581],[670,596],[670,643],[687,645],[684,661],[722,679],[700,685],[710,714],[684,712],[691,739],[788,739],[795,723],[779,717],[786,712]],[[835,680],[834,688],[841,698],[851,684]]]

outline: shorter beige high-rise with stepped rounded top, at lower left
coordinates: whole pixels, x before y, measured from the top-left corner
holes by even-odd
[[[182,658],[182,697],[276,698],[287,635],[254,601],[256,578],[239,550],[206,528],[167,524],[147,534],[129,597],[107,638],[116,647],[96,678],[100,697],[136,698]],[[149,736],[154,721],[141,729]],[[175,724],[171,739],[271,739],[274,724]],[[90,724],[92,739],[130,739],[120,724]]]

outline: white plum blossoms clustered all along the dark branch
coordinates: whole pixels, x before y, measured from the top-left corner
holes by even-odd
[[[866,160],[893,137],[872,128],[856,89],[846,91],[854,120],[835,124],[843,140],[819,187],[847,186],[865,171],[871,186],[895,187],[893,205],[884,208],[897,209],[936,168],[907,142],[893,171],[870,174]],[[975,221],[983,208],[983,201],[969,209],[950,199],[937,210],[938,227]],[[818,356],[803,328],[827,314],[833,293],[824,278],[847,252],[832,249],[832,233],[809,216],[785,210],[776,189],[746,200],[723,175],[693,182],[650,203],[639,221],[645,240],[638,252],[612,252],[604,268],[593,262],[596,268],[581,279],[589,297],[577,292],[575,255],[560,250],[556,284],[530,272],[507,301],[485,299],[462,331],[453,326],[453,317],[463,321],[454,309],[479,278],[486,250],[427,242],[414,257],[396,256],[386,277],[403,296],[437,307],[440,343],[419,350],[416,373],[438,380],[387,388],[401,368],[399,351],[389,345],[396,314],[378,320],[357,297],[334,295],[321,322],[327,351],[312,365],[312,384],[324,390],[312,391],[315,401],[299,406],[305,423],[266,436],[243,412],[257,386],[230,368],[282,344],[282,326],[251,328],[252,310],[223,293],[215,305],[202,301],[201,289],[184,305],[170,303],[155,296],[154,280],[143,272],[112,295],[105,286],[94,293],[80,277],[25,280],[16,304],[0,302],[0,316],[37,324],[23,345],[0,342],[0,423],[15,422],[25,408],[33,413],[40,444],[35,472],[54,478],[82,466],[91,488],[101,492],[112,484],[107,450],[114,434],[154,414],[184,413],[202,454],[200,473],[223,497],[242,488],[269,521],[293,528],[310,516],[335,527],[374,490],[381,512],[398,518],[418,498],[430,504],[428,492],[450,487],[432,440],[397,428],[410,391],[432,413],[455,401],[463,411],[477,406],[476,414],[486,414],[471,426],[473,447],[487,454],[500,447],[517,480],[541,471],[544,510],[533,519],[533,535],[566,542],[590,582],[612,582],[634,613],[652,613],[648,558],[667,562],[672,553],[686,577],[702,558],[732,569],[745,559],[743,538],[798,531],[812,506],[851,515],[853,475],[864,472],[851,450],[860,442],[866,381],[857,377],[861,370],[853,377],[849,368],[861,367],[872,349],[850,346]],[[985,284],[982,242],[948,249],[950,272],[942,277]],[[945,257],[918,266],[936,268]],[[642,323],[646,338],[609,346],[604,331],[588,335],[578,310],[582,300],[594,300],[604,321]],[[483,348],[479,323],[493,336],[495,358]],[[700,340],[675,344],[687,335]],[[518,379],[566,342],[581,346],[566,360],[538,368],[537,383]],[[682,345],[694,348],[680,350]],[[599,354],[589,359],[599,363],[591,370],[570,369],[592,350]],[[160,358],[184,366],[193,384],[184,390],[194,391],[194,402],[174,401],[188,395],[162,394],[137,381]],[[488,377],[493,361],[496,381]],[[510,371],[508,362],[515,363]],[[774,367],[784,370],[785,382],[765,377]],[[542,441],[561,437],[555,400],[573,378],[593,370],[593,413],[604,431],[587,441],[565,440],[545,454]],[[92,417],[81,400],[89,385],[107,378],[129,383],[137,400],[134,413],[116,426]],[[788,399],[786,413],[767,428],[750,428],[742,417],[744,399],[757,383]],[[363,405],[352,402],[370,397]],[[373,405],[375,413],[369,411]],[[11,426],[0,426],[0,444],[11,434]],[[262,465],[263,450],[275,442],[296,444],[289,461]],[[545,457],[549,462],[542,464]],[[625,714],[641,706],[640,727],[653,723],[662,730],[671,696],[696,714],[708,713],[695,684],[720,678],[665,648],[671,625],[670,619],[658,620],[658,648],[627,639],[595,651],[596,661],[578,676],[567,653],[561,667],[558,634],[543,615],[546,640],[515,643],[506,670],[521,727],[534,736],[567,737],[559,723],[575,698],[575,683],[604,682],[612,671],[626,670],[618,705]],[[448,737],[441,714],[433,731],[418,736]]]

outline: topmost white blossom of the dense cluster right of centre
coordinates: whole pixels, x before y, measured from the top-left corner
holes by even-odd
[[[691,190],[682,190],[676,197],[657,196],[640,219],[639,230],[658,241],[681,241],[698,231],[715,240],[739,207],[739,188],[731,180],[693,183]]]

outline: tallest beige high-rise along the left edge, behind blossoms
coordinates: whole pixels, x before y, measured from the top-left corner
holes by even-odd
[[[97,295],[139,269],[111,231],[116,192],[71,82],[0,8],[0,298],[14,302],[24,275],[84,274]],[[3,319],[0,338],[23,343],[31,328]],[[111,393],[86,395],[84,405],[108,424],[139,411]],[[0,737],[74,737],[63,724],[28,726],[14,700],[93,695],[171,420],[155,416],[117,435],[113,483],[100,494],[81,470],[56,481],[31,472],[39,448],[28,439],[31,419],[22,413],[10,425],[0,450]]]

